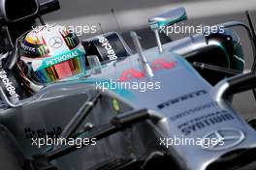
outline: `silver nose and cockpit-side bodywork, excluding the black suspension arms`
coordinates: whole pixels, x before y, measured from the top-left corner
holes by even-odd
[[[46,147],[32,146],[31,138],[44,137],[44,133],[60,133],[80,105],[96,91],[101,91],[104,98],[81,127],[86,123],[104,125],[116,114],[140,108],[153,110],[161,116],[161,121],[137,124],[95,146],[59,158],[55,163],[60,169],[89,169],[114,158],[144,160],[156,151],[165,151],[174,157],[180,169],[204,170],[225,153],[254,148],[254,129],[228,104],[220,104],[213,98],[213,87],[187,61],[166,49],[162,54],[156,49],[144,51],[154,72],[151,78],[144,76],[138,62],[140,58],[135,54],[104,66],[101,73],[49,85],[22,106],[2,110],[1,123],[14,133],[26,156],[40,154]],[[160,82],[160,88],[146,91],[112,88],[112,82]],[[167,146],[162,143],[174,138],[212,138],[211,135],[234,138],[224,142],[224,146],[209,149],[202,145]]]

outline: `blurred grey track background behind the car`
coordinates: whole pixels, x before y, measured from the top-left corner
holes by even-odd
[[[247,23],[244,12],[248,10],[256,28],[255,0],[59,0],[61,10],[44,16],[48,23],[66,26],[83,26],[86,30],[80,39],[87,39],[109,31],[122,34],[132,46],[128,31],[137,31],[143,38],[143,47],[155,46],[152,32],[148,29],[148,17],[163,12],[184,7],[188,20],[184,25],[214,25],[226,21],[238,20]],[[97,28],[92,33],[92,26]],[[80,30],[78,30],[80,31]],[[243,44],[246,67],[250,70],[252,64],[252,50],[246,32],[236,29]],[[165,42],[175,41],[187,34],[173,34],[164,37]],[[256,116],[256,102],[251,92],[235,96],[233,105],[245,118]]]

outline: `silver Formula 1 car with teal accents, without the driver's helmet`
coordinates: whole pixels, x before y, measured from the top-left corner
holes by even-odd
[[[186,19],[185,10],[153,16],[158,46],[143,50],[131,32],[136,52],[113,32],[84,40],[85,76],[28,96],[16,75],[16,38],[36,18],[44,24],[42,14],[59,4],[26,2],[18,11],[16,1],[0,6],[0,169],[214,170],[255,161],[255,120],[246,122],[231,106],[234,94],[256,87],[256,65],[242,73],[242,46],[231,30],[245,28],[255,50],[248,13],[249,26],[222,23],[223,31],[163,45],[159,32]]]

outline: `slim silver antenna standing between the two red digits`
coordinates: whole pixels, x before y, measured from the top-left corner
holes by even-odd
[[[140,57],[140,61],[142,63],[142,66],[143,66],[143,69],[144,69],[144,72],[149,76],[149,77],[153,77],[154,74],[153,74],[153,71],[152,69],[150,68],[150,65],[148,64],[145,56],[144,56],[144,51],[143,51],[143,48],[142,48],[142,45],[141,45],[141,42],[139,41],[139,36],[136,34],[136,32],[134,31],[131,31],[130,32],[130,35],[133,39],[133,42],[135,44],[135,47],[136,47],[136,50],[139,54],[139,57]]]

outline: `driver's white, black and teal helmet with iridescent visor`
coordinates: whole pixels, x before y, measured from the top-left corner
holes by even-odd
[[[17,69],[30,93],[85,72],[84,48],[76,34],[64,26],[37,26],[17,39],[16,45]]]

